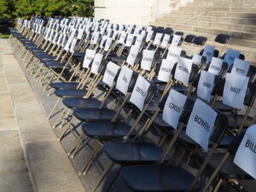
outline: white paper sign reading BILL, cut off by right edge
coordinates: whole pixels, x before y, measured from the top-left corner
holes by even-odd
[[[256,179],[256,125],[247,129],[236,151],[234,163]]]

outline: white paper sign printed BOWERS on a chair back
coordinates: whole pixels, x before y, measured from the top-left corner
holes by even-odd
[[[208,151],[209,138],[212,134],[217,113],[205,102],[197,99],[189,117],[186,134]]]

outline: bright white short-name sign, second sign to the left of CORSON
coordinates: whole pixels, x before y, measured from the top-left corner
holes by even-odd
[[[117,79],[117,82],[116,82],[116,89],[119,90],[124,95],[127,94],[127,90],[131,82],[131,76],[132,76],[132,70],[126,66],[123,66],[119,73],[119,78]]]

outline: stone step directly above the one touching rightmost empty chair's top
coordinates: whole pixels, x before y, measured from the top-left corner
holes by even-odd
[[[223,22],[215,22],[215,21],[199,20],[199,18],[196,18],[196,21],[194,19],[193,20],[189,20],[189,19],[168,20],[168,18],[161,18],[158,21],[170,22],[172,23],[172,25],[188,24],[191,26],[207,26],[207,27],[214,27],[214,28],[230,29],[230,30],[236,30],[237,32],[256,32],[256,26],[233,24],[233,23],[226,22],[225,20],[222,20]]]

